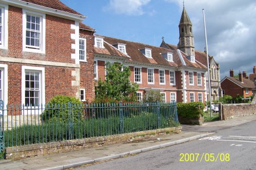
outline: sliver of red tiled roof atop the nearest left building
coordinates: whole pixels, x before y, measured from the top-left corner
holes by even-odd
[[[22,0],[22,1],[48,7],[48,8],[53,8],[60,11],[69,12],[72,14],[82,15],[79,12],[76,12],[75,10],[69,8],[59,0]]]

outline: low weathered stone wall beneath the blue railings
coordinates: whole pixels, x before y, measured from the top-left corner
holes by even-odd
[[[26,157],[34,157],[41,155],[51,155],[57,153],[64,153],[70,151],[77,151],[88,148],[102,147],[108,144],[130,142],[135,140],[142,140],[146,138],[153,138],[168,133],[180,133],[182,127],[165,128],[158,130],[149,130],[142,132],[126,133],[119,135],[111,135],[104,137],[92,137],[85,139],[74,139],[50,143],[37,143],[22,145],[18,147],[5,148],[6,159],[22,159]]]

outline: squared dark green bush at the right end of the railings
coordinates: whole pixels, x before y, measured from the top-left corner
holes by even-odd
[[[198,118],[204,115],[202,102],[177,103],[178,115],[184,118]]]

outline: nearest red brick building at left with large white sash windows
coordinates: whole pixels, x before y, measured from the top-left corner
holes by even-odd
[[[38,105],[57,94],[94,98],[93,33],[55,0],[1,1],[0,98]],[[85,96],[82,96],[85,99]]]

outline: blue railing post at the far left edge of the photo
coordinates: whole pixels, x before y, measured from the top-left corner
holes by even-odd
[[[4,149],[5,149],[5,117],[4,117],[4,101],[0,100],[0,159],[4,159]],[[1,126],[2,118],[2,126]]]

